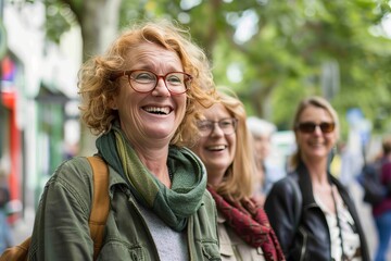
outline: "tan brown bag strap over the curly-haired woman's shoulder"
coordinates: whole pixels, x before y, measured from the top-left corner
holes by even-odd
[[[92,167],[93,199],[89,227],[93,240],[93,260],[97,260],[103,244],[104,227],[110,210],[109,167],[100,157],[87,157]]]

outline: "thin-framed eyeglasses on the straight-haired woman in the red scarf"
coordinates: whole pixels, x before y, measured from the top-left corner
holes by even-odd
[[[215,128],[216,124],[223,130],[223,133],[225,135],[231,135],[237,129],[238,120],[235,117],[222,119],[218,122],[203,120],[203,121],[199,121],[197,123],[197,126],[198,126],[198,129],[200,130],[200,135],[202,137],[206,137],[206,136],[211,135],[211,133]]]

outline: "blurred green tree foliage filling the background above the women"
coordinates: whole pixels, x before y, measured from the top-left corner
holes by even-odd
[[[84,26],[88,2],[106,8],[104,0],[45,1],[48,11],[63,10],[62,17],[48,13],[59,18],[48,20],[53,39],[73,22]],[[177,20],[206,51],[216,84],[230,86],[249,114],[281,129],[289,128],[300,99],[320,95],[340,113],[344,132],[344,115],[356,107],[383,132],[391,129],[391,36],[381,24],[390,9],[389,0],[124,0],[118,24]]]

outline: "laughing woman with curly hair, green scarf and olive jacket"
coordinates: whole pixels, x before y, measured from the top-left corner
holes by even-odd
[[[195,102],[213,102],[204,52],[168,21],[124,30],[79,73],[81,116],[100,136],[110,211],[98,260],[220,260],[216,210],[202,162],[182,146]],[[29,260],[92,260],[91,167],[61,164],[45,187]]]

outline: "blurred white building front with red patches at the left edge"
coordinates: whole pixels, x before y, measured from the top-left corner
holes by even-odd
[[[79,140],[75,27],[54,45],[45,36],[40,1],[1,1],[0,160],[11,198],[36,207],[42,186]],[[23,215],[23,212],[22,212]]]

